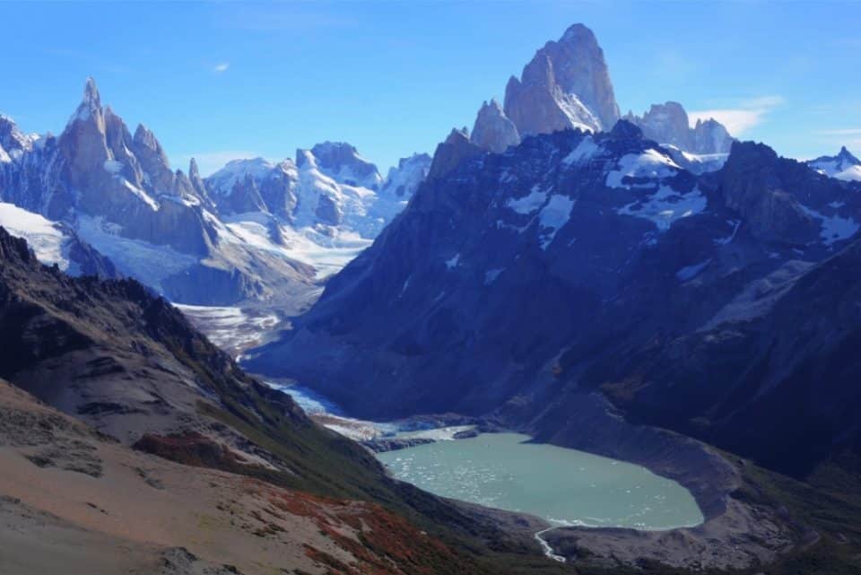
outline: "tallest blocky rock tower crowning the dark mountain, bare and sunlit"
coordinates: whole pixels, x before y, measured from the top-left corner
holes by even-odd
[[[619,107],[592,30],[574,24],[559,41],[538,50],[521,78],[509,80],[505,114],[521,136],[570,127],[610,129]]]

